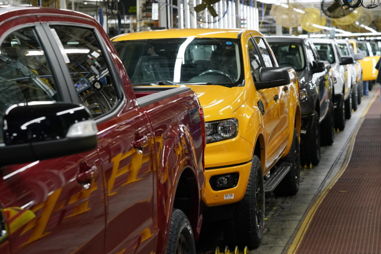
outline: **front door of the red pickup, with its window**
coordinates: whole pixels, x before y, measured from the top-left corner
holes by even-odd
[[[13,19],[2,24],[1,31],[0,116],[17,103],[71,103],[57,56],[38,19]],[[12,254],[103,252],[104,180],[97,150],[0,167],[0,211]],[[6,242],[0,244],[3,253]]]

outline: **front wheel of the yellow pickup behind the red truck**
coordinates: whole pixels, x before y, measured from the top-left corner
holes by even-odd
[[[257,248],[264,231],[264,179],[261,162],[251,159],[251,170],[246,193],[237,203],[233,217],[224,227],[224,237],[229,246]]]

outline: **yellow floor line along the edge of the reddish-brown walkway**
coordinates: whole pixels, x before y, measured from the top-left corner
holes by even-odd
[[[349,163],[349,160],[351,159],[351,156],[352,156],[353,146],[354,146],[354,143],[355,143],[357,132],[359,132],[359,129],[360,129],[361,125],[362,125],[362,122],[364,121],[364,117],[368,113],[368,111],[370,109],[370,106],[376,100],[377,95],[379,94],[379,92],[380,92],[380,90],[378,89],[376,91],[375,95],[373,96],[372,100],[368,104],[367,108],[365,108],[365,111],[362,114],[362,116],[360,118],[360,121],[357,124],[357,127],[356,127],[355,131],[352,134],[351,140],[349,142],[349,149],[348,149],[348,151],[346,153],[343,165],[340,167],[339,172],[331,180],[331,182],[328,184],[328,186],[322,191],[322,193],[320,193],[320,195],[316,199],[315,203],[311,206],[311,208],[307,212],[307,215],[304,218],[303,223],[302,223],[301,227],[299,228],[298,233],[296,234],[293,243],[290,245],[290,248],[288,249],[287,254],[296,254],[296,251],[298,251],[298,248],[299,248],[299,246],[300,246],[300,244],[301,244],[301,242],[302,242],[302,240],[304,238],[304,235],[306,234],[306,231],[307,231],[307,229],[308,229],[308,227],[309,227],[309,225],[310,225],[310,223],[311,223],[311,221],[312,221],[312,219],[314,217],[315,212],[317,211],[317,208],[322,203],[322,201],[325,198],[325,196],[327,195],[328,191],[331,190],[332,186],[336,183],[338,178],[343,174],[344,170],[346,169],[346,167],[347,167],[347,165]]]

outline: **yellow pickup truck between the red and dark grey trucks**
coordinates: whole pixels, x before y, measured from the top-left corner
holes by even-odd
[[[278,67],[264,36],[250,30],[148,31],[112,42],[134,86],[194,90],[206,122],[204,218],[224,221],[229,244],[259,246],[264,192],[299,188],[296,72]]]

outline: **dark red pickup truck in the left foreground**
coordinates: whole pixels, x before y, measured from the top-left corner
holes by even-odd
[[[195,93],[132,88],[85,14],[6,7],[0,21],[0,253],[193,253]]]

